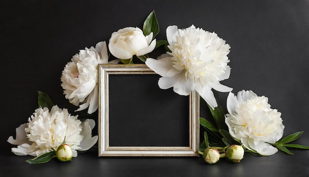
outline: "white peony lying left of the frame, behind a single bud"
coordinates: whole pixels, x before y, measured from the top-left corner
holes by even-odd
[[[98,140],[98,136],[91,137],[94,120],[80,122],[77,116],[71,116],[67,109],[58,106],[53,106],[50,111],[46,107],[36,109],[28,122],[16,128],[16,139],[10,136],[7,140],[18,145],[12,148],[16,155],[39,156],[56,150],[65,140],[76,157],[76,150],[88,150]]]

